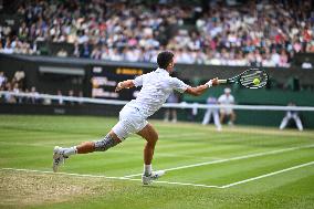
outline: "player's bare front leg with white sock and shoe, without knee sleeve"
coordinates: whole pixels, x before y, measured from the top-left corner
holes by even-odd
[[[151,124],[147,124],[137,134],[147,142],[144,147],[144,174],[142,176],[142,182],[144,185],[149,185],[165,174],[164,170],[151,170],[151,160],[154,157],[155,146],[158,140],[158,134]]]

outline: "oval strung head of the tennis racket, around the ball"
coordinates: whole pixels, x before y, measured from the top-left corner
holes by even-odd
[[[259,83],[254,83],[259,80]],[[268,84],[269,74],[261,69],[249,69],[241,73],[238,77],[238,83],[248,88],[261,88]]]

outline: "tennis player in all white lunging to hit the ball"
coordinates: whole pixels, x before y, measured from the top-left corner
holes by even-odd
[[[53,171],[57,171],[59,166],[71,155],[105,151],[125,140],[130,134],[137,134],[146,139],[143,184],[149,185],[165,174],[164,170],[153,171],[151,169],[158,134],[153,125],[146,121],[147,117],[161,107],[174,90],[197,96],[205,93],[212,85],[218,85],[219,82],[218,79],[213,79],[203,85],[191,87],[182,81],[171,77],[169,74],[174,71],[175,63],[174,54],[168,51],[158,54],[157,63],[158,69],[156,71],[117,84],[116,92],[134,86],[142,86],[142,90],[136,100],[130,101],[122,108],[118,123],[104,138],[97,142],[85,142],[70,148],[54,147]]]

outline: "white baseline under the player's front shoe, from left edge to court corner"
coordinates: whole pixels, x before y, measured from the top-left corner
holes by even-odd
[[[106,179],[116,179],[116,180],[130,180],[130,181],[140,181],[142,179],[132,179],[126,177],[113,177],[113,176],[104,176],[104,175],[87,175],[87,174],[71,174],[71,173],[53,173],[48,170],[33,170],[33,169],[21,169],[21,168],[0,168],[0,170],[13,170],[13,171],[27,171],[27,173],[40,173],[40,174],[51,174],[51,175],[65,175],[65,176],[75,176],[75,177],[92,177],[92,178],[106,178]],[[166,184],[166,185],[180,185],[180,186],[193,186],[193,187],[206,187],[206,188],[220,188],[220,186],[216,185],[200,185],[200,184],[190,184],[190,182],[172,182],[172,181],[164,181],[164,180],[154,180],[157,184]]]

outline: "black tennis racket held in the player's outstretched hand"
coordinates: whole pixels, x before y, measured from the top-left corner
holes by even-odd
[[[218,80],[220,84],[241,84],[248,88],[260,88],[268,84],[269,74],[261,69],[249,69],[228,80]]]

